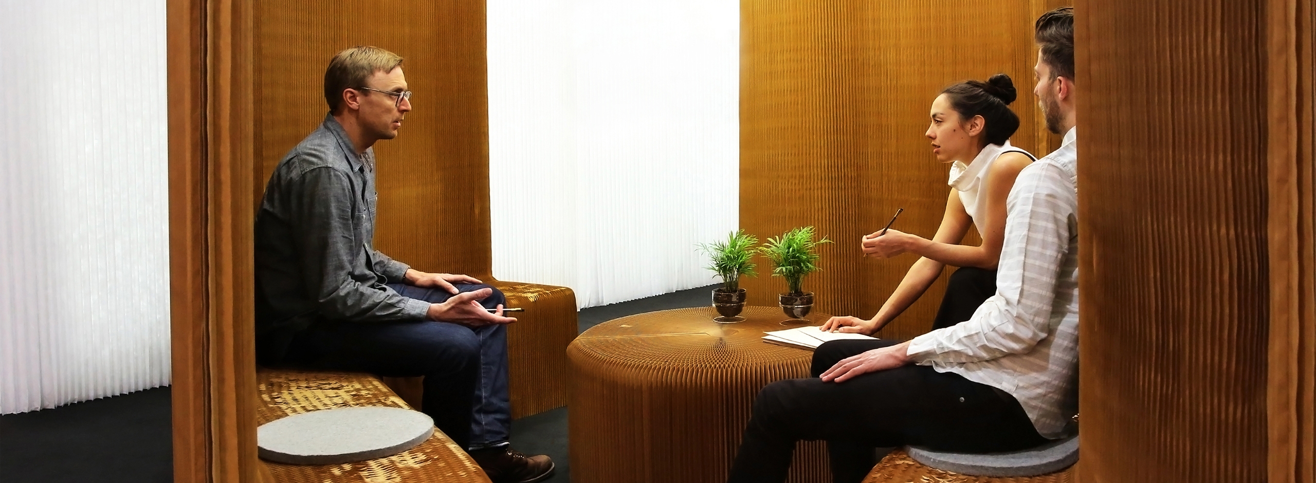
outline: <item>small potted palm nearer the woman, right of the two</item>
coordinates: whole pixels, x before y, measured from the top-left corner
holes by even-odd
[[[769,237],[758,249],[772,261],[772,276],[786,279],[787,292],[780,293],[778,301],[782,312],[791,318],[804,318],[813,308],[813,292],[805,292],[801,284],[804,276],[820,270],[817,246],[832,242],[826,237],[813,241],[813,226],[801,226],[783,233],[780,238]]]

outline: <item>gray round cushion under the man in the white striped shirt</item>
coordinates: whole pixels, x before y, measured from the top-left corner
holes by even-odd
[[[909,458],[928,467],[973,476],[1037,476],[1057,472],[1078,462],[1078,436],[1008,453],[946,453],[905,447]]]

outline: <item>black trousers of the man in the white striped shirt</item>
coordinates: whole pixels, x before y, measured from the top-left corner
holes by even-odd
[[[826,342],[813,351],[815,378],[763,387],[728,482],[784,482],[800,440],[828,441],[837,483],[861,482],[878,463],[876,447],[991,453],[1046,442],[1015,397],[928,366],[869,372],[844,383],[817,378],[844,358],[895,343]]]

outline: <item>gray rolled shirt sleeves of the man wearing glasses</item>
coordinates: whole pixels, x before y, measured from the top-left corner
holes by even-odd
[[[303,287],[313,300],[316,311],[330,320],[355,322],[424,320],[429,303],[408,299],[378,283],[374,274],[363,272],[367,250],[371,258],[382,257],[367,247],[366,240],[355,240],[359,230],[354,224],[367,222],[366,213],[353,207],[351,183],[347,175],[332,167],[316,167],[301,174],[299,183],[303,196],[292,199],[293,229],[300,246]],[[372,268],[401,280],[407,266],[391,258],[375,258]]]

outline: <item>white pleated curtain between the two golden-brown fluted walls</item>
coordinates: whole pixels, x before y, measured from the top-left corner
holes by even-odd
[[[488,0],[495,276],[579,307],[717,283],[738,71],[738,1]]]

